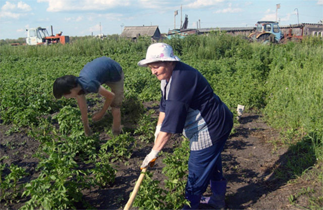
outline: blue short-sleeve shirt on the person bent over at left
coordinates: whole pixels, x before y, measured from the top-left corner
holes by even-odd
[[[101,84],[119,81],[121,75],[120,64],[103,56],[87,63],[80,71],[77,82],[85,93],[97,93]]]

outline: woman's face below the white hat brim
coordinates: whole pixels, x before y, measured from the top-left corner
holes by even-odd
[[[148,64],[148,67],[151,70],[151,74],[156,75],[159,81],[163,79],[169,81],[175,64],[174,62],[155,62]]]

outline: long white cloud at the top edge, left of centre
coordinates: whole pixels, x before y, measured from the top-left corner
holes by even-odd
[[[98,11],[130,5],[130,0],[37,0],[48,3],[47,12]]]

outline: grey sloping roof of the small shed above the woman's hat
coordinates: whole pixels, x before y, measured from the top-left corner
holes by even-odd
[[[158,26],[125,26],[123,29],[121,36],[122,37],[137,37],[138,34],[141,36],[153,36],[158,30],[159,34],[160,31]]]

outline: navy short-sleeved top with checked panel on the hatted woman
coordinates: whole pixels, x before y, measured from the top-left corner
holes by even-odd
[[[170,81],[162,80],[160,87],[160,112],[165,113],[160,131],[183,133],[191,150],[212,146],[231,131],[232,113],[196,69],[177,62]]]

